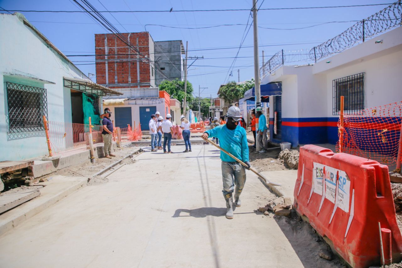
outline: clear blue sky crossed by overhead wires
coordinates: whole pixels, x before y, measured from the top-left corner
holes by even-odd
[[[130,0],[90,0],[98,10],[197,10],[197,9],[238,9],[251,8],[252,0],[164,0],[164,1],[130,1]],[[338,0],[333,1],[263,1],[258,0],[261,8],[288,8],[307,6],[342,6],[361,4],[391,3],[391,1],[379,0]],[[80,10],[71,0],[0,0],[0,6],[6,10]],[[310,49],[332,37],[343,32],[355,22],[329,23],[316,27],[298,30],[285,30],[289,28],[307,27],[330,21],[353,21],[365,19],[371,14],[385,8],[381,6],[347,7],[347,8],[326,8],[326,9],[302,9],[302,10],[260,10],[258,12],[258,25],[274,29],[258,29],[258,42],[260,47],[259,55],[265,51],[266,60],[275,52],[284,49],[285,51],[299,51]],[[0,11],[4,12],[4,11]],[[94,54],[94,34],[105,33],[106,31],[92,21],[85,13],[34,13],[22,12],[53,44],[64,54]],[[120,32],[145,31],[144,25],[158,24],[173,27],[206,27],[222,24],[246,24],[249,11],[221,11],[221,12],[170,12],[170,13],[109,13],[103,15],[119,29]],[[250,21],[252,19],[250,18]],[[189,42],[189,50],[238,47],[242,39],[245,25],[222,26],[209,29],[173,29],[160,26],[147,26],[154,41],[183,40]],[[253,43],[252,28],[250,29],[244,46],[251,46]],[[302,43],[302,44],[301,44]],[[240,69],[240,80],[247,80],[254,77],[253,69],[253,48],[240,49],[239,57],[234,64],[233,77],[228,77],[228,69],[236,56],[238,49],[216,49],[203,51],[189,51],[189,56],[204,56],[204,60],[197,60],[194,67],[189,69],[189,81],[193,83],[195,92],[198,95],[198,87],[204,89],[201,97],[216,97],[219,85],[228,80],[238,79]],[[210,59],[219,58],[219,59]],[[95,74],[94,57],[71,57],[84,73]],[[89,61],[89,62],[86,62]],[[262,58],[260,57],[260,66]],[[192,61],[189,61],[189,64]],[[199,65],[199,66],[196,66]],[[219,66],[219,67],[207,67]],[[210,74],[213,73],[213,74]],[[94,80],[94,79],[93,79]]]

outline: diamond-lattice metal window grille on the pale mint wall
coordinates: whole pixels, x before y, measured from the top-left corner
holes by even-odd
[[[8,133],[45,130],[47,118],[46,89],[6,82]]]

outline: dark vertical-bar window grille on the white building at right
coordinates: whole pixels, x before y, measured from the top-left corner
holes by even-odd
[[[340,96],[344,96],[345,114],[360,114],[364,109],[364,72],[332,80],[332,115],[339,114]]]

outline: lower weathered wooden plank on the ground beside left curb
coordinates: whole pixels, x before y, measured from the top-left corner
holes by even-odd
[[[15,188],[0,195],[0,213],[14,208],[41,194],[42,186]]]

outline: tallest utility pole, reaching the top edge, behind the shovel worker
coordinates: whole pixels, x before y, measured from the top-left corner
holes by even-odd
[[[257,23],[257,2],[252,0],[252,17],[253,17],[253,29],[254,29],[254,89],[255,89],[255,107],[261,105],[261,91],[260,91],[260,68],[258,62],[258,23]],[[258,124],[258,118],[256,118],[256,124]],[[262,150],[258,142],[256,142],[257,152]]]

